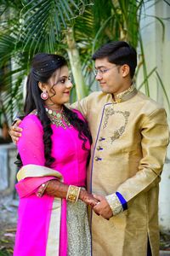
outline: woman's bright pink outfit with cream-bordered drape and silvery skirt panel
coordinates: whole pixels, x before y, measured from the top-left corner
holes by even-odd
[[[78,115],[82,118],[80,113]],[[42,183],[54,178],[85,187],[89,151],[82,149],[82,140],[73,127],[64,129],[52,125],[52,155],[55,162],[53,169],[45,167],[43,131],[37,115],[26,116],[20,127],[23,132],[17,147],[23,167],[18,173],[19,183],[16,184],[20,205],[14,256],[78,256],[79,251],[75,251],[72,243],[76,236],[82,238],[82,241],[75,240],[80,244],[78,250],[88,247],[88,251],[81,255],[90,255],[87,209],[82,201],[73,205],[65,199],[48,195],[39,198],[36,195]],[[86,148],[90,148],[88,142]],[[82,234],[75,234],[79,230],[82,230]]]

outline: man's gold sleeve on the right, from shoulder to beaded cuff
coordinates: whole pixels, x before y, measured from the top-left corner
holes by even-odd
[[[145,116],[141,128],[143,158],[139,162],[139,172],[129,177],[117,190],[127,204],[141,193],[147,192],[160,181],[166,158],[169,131],[164,109],[156,109]]]

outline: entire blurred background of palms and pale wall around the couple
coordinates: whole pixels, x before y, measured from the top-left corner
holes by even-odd
[[[0,256],[12,255],[18,202],[16,148],[8,127],[22,114],[32,56],[65,56],[74,102],[99,90],[91,56],[114,40],[125,40],[137,49],[136,87],[166,108],[169,121],[170,0],[0,0]],[[170,251],[169,195],[168,148],[159,198],[163,251]]]

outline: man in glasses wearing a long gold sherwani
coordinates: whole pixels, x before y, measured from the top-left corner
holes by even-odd
[[[137,55],[129,44],[105,44],[93,60],[102,91],[73,105],[93,137],[88,189],[99,200],[90,218],[93,256],[158,256],[166,113],[134,88]]]

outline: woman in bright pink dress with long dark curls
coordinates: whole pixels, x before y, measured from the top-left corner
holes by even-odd
[[[22,167],[14,256],[91,254],[87,205],[97,201],[84,189],[91,137],[81,113],[64,105],[71,87],[63,57],[35,55],[17,143]]]

